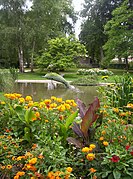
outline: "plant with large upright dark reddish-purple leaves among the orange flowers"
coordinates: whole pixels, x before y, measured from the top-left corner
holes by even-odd
[[[67,141],[70,144],[74,144],[78,148],[82,148],[89,145],[90,141],[94,139],[96,128],[101,124],[100,117],[97,114],[97,110],[100,107],[100,102],[96,97],[93,103],[90,104],[87,111],[85,110],[85,105],[81,100],[77,99],[77,104],[82,121],[81,124],[74,122],[72,130],[78,136],[78,139],[68,137]],[[99,123],[95,124],[98,119]]]

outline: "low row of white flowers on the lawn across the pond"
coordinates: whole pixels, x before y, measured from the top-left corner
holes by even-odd
[[[99,68],[93,68],[93,69],[79,69],[77,71],[78,75],[101,75],[101,76],[110,76],[113,75],[112,71],[109,70],[100,70]]]

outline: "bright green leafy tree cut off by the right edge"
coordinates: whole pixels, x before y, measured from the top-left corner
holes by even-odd
[[[133,10],[129,0],[112,12],[112,19],[105,25],[108,41],[104,45],[105,60],[114,57],[125,58],[128,69],[128,57],[133,55]]]

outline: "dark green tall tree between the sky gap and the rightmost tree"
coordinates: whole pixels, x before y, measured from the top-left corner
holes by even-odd
[[[85,44],[88,55],[93,62],[101,62],[104,57],[103,45],[107,41],[104,25],[111,19],[111,12],[122,0],[85,0],[81,16],[84,21],[79,39]]]

